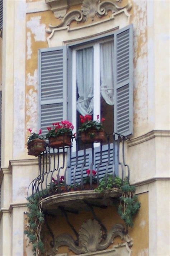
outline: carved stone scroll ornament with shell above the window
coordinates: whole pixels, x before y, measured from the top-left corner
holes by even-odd
[[[46,3],[47,2],[49,3],[50,1],[52,0],[46,0]],[[98,17],[102,17],[103,15],[107,15],[109,11],[113,15],[114,13],[117,13],[123,9],[127,11],[131,10],[132,4],[130,2],[128,2],[128,4],[123,7],[119,7],[116,4],[116,2],[120,3],[121,1],[122,0],[101,2],[100,0],[84,0],[81,5],[81,10],[72,10],[68,12],[63,16],[63,19],[59,25],[52,26],[51,24],[49,24],[49,28],[46,29],[46,32],[51,33],[52,29],[69,26],[72,21],[76,21],[77,23],[80,23],[80,22],[85,22],[89,17],[93,20],[96,15],[98,15]],[[66,10],[65,10],[65,13],[66,13]],[[58,15],[57,17],[59,17]],[[62,17],[61,14],[60,14],[60,17]]]

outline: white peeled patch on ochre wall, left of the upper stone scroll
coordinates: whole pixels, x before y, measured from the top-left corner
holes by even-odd
[[[31,17],[27,21],[27,28],[34,34],[35,41],[46,41],[46,25],[40,24],[41,16]]]

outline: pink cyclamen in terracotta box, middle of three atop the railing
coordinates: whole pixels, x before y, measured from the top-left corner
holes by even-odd
[[[49,140],[49,146],[53,148],[71,146],[72,130],[74,126],[68,120],[53,123],[53,127],[47,127],[46,138]]]

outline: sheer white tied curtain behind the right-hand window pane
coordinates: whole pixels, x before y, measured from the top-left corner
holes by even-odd
[[[100,45],[101,96],[108,105],[114,105],[113,42]]]

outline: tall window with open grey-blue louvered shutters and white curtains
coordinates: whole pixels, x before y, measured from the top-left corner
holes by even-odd
[[[88,113],[94,119],[97,114],[108,115],[108,133],[132,134],[132,28],[131,24],[103,38],[39,50],[39,127],[43,133],[62,119],[77,126],[76,116]],[[98,152],[95,149],[96,161]],[[103,154],[107,161],[107,147]],[[83,157],[81,152],[79,156]],[[90,157],[86,152],[87,161]]]

